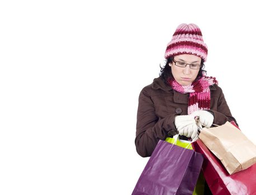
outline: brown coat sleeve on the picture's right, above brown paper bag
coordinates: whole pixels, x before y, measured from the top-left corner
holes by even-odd
[[[229,106],[226,103],[225,96],[220,89],[220,96],[217,103],[217,110],[210,110],[214,114],[214,124],[223,125],[226,121],[234,121],[236,123],[235,118],[231,115]],[[236,125],[238,125],[236,123]]]

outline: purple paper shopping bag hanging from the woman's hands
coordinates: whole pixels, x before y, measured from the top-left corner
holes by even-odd
[[[132,195],[192,194],[203,156],[159,140]]]

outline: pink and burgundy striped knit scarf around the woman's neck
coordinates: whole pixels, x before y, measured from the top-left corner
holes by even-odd
[[[188,99],[188,114],[196,110],[209,110],[210,109],[210,85],[218,84],[215,77],[202,76],[201,79],[195,80],[191,85],[183,86],[178,84],[174,79],[168,80],[168,84],[172,88],[182,94],[189,92]]]

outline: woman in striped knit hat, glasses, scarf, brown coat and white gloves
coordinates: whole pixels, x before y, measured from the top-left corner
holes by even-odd
[[[207,46],[198,26],[179,25],[165,58],[160,76],[139,96],[135,145],[141,157],[149,157],[159,139],[177,133],[181,139],[195,138],[195,116],[208,127],[235,121],[217,81],[205,76]]]

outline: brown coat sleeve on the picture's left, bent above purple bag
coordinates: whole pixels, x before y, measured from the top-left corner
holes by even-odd
[[[159,139],[177,134],[174,114],[159,120],[149,91],[144,88],[139,96],[135,145],[141,157],[150,157]]]

